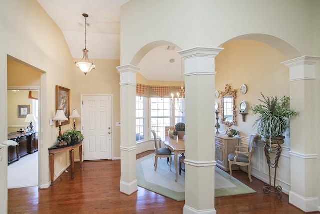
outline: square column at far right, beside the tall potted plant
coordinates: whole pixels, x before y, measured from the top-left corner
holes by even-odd
[[[300,115],[291,119],[291,190],[289,203],[305,212],[318,211],[318,162],[316,136],[316,62],[319,57],[302,56],[282,62],[290,68],[290,107]],[[317,68],[319,72],[319,68]]]

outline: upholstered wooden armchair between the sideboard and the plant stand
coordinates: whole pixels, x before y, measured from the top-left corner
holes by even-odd
[[[230,178],[232,176],[232,164],[239,166],[248,166],[249,180],[252,182],[251,178],[251,158],[253,151],[254,140],[257,134],[251,134],[248,146],[235,146],[236,150],[234,153],[228,155],[229,168],[230,168]],[[243,150],[243,151],[240,151]]]

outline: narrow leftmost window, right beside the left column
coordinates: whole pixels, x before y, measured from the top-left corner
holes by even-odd
[[[135,141],[144,139],[144,97],[135,97]]]

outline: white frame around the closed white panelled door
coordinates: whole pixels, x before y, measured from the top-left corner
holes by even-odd
[[[111,159],[114,160],[113,150],[114,150],[114,140],[113,140],[113,94],[81,94],[81,132],[83,132],[83,97],[84,96],[110,96],[111,97]],[[83,149],[82,149],[82,160],[83,157]]]

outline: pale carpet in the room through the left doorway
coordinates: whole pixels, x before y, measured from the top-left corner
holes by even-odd
[[[8,165],[8,188],[38,185],[38,152],[21,157]]]

